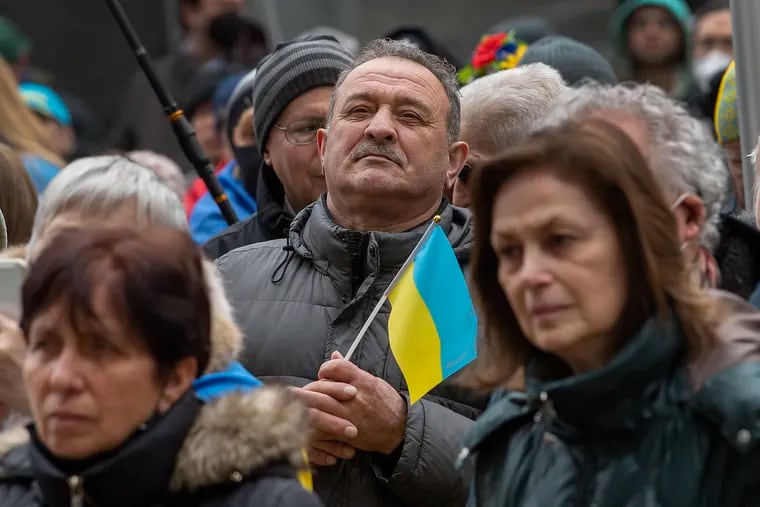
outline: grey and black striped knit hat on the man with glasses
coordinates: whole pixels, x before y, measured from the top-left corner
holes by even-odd
[[[335,85],[353,59],[335,38],[321,35],[281,42],[261,61],[253,85],[253,128],[262,155],[288,104],[312,88]]]

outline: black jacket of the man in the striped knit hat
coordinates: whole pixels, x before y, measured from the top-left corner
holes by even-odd
[[[203,245],[210,259],[253,243],[285,238],[295,216],[285,206],[285,189],[274,169],[262,162],[256,185],[258,211],[223,230]]]

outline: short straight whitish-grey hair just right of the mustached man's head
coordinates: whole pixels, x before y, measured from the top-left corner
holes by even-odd
[[[465,141],[497,151],[515,146],[543,121],[565,89],[559,72],[543,63],[476,79],[460,90],[462,125],[474,133]]]

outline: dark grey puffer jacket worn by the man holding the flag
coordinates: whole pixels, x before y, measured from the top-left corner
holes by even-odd
[[[439,214],[465,263],[472,245],[470,213],[444,202]],[[347,351],[426,227],[350,231],[333,221],[323,196],[296,216],[287,240],[248,245],[220,258],[246,335],[243,364],[262,380],[297,386],[316,380],[333,351]],[[405,393],[388,345],[389,308],[373,320],[352,362]],[[481,401],[444,382],[409,406],[396,463],[383,465],[378,455],[358,452],[320,468],[315,491],[330,506],[463,505],[466,480],[453,463]]]

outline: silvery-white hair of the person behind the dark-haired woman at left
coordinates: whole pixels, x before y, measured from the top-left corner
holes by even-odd
[[[45,189],[29,250],[60,213],[107,218],[128,200],[135,203],[138,222],[188,228],[179,197],[151,169],[121,156],[87,157],[64,167]]]

